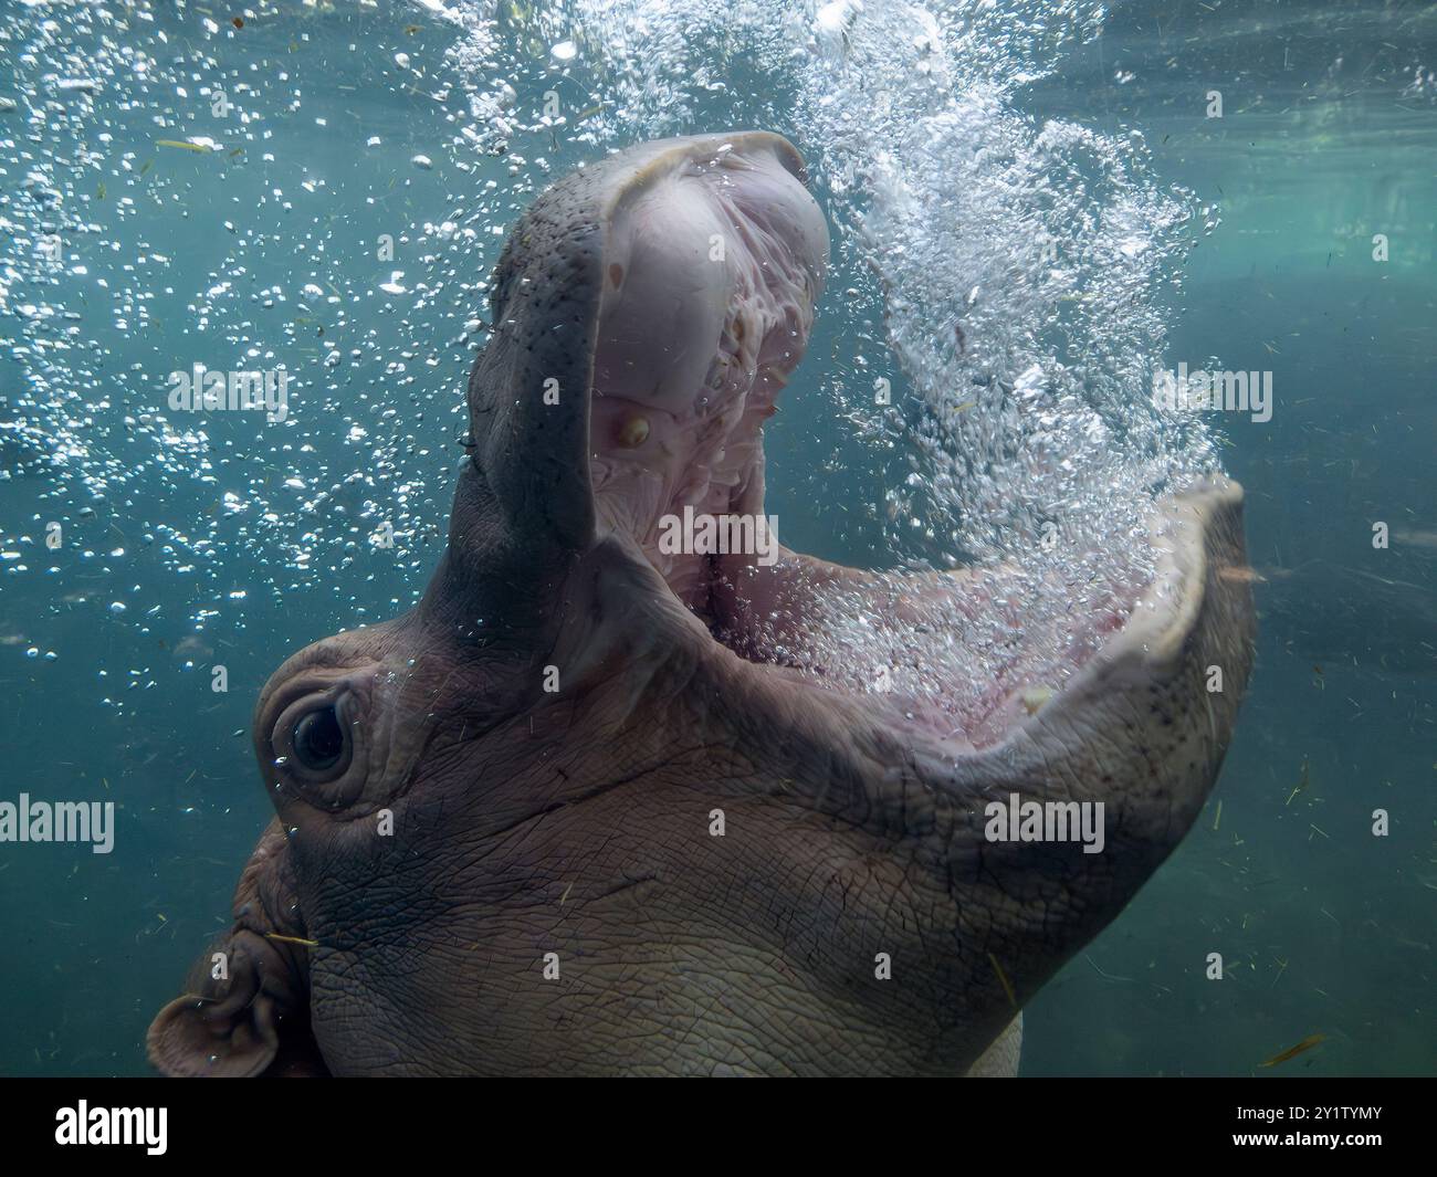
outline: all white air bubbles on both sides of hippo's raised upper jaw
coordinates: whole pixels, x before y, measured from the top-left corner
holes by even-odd
[[[1151,177],[1137,134],[1023,109],[1101,4],[457,0],[411,17],[0,14],[0,479],[46,480],[24,542],[0,535],[20,553],[7,575],[43,566],[40,522],[85,532],[88,510],[86,559],[171,573],[197,625],[316,588],[345,624],[412,601],[513,217],[596,151],[764,126],[805,154],[838,230],[821,316],[845,339],[806,362],[828,404],[792,411],[877,471],[874,494],[852,479],[855,526],[890,562],[1019,569],[1023,642],[1055,668],[1072,601],[1131,604],[1154,499],[1216,457],[1148,395],[1203,231],[1193,201]],[[172,411],[165,378],[194,364],[286,371],[287,417]],[[875,405],[884,375],[895,395]],[[105,527],[129,556],[101,555]],[[990,628],[963,648],[1013,624],[976,618]],[[966,657],[973,681],[994,670]]]

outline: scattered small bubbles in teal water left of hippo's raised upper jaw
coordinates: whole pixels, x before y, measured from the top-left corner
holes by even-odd
[[[366,43],[366,22],[397,39],[401,26],[262,14],[0,13],[14,62],[0,112],[13,338],[0,480],[43,487],[39,517],[69,527],[60,566],[95,556],[80,545],[96,526],[131,536],[142,589],[188,595],[197,628],[216,608],[239,624],[247,601],[318,586],[339,586],[361,618],[417,595],[445,529],[473,310],[497,251],[483,234],[507,216],[468,162],[461,197],[399,165],[441,149],[454,116],[453,79]],[[441,60],[450,26],[430,36]],[[405,128],[405,108],[430,122]],[[177,410],[171,378],[195,365],[282,372],[289,411]],[[381,529],[392,545],[371,562]],[[165,573],[168,589],[152,579]]]

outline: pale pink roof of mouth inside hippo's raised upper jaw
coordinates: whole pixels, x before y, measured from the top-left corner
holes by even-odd
[[[727,516],[763,512],[762,424],[803,354],[826,251],[818,206],[767,144],[690,157],[612,217],[589,424],[598,522],[638,540],[690,606],[707,604],[706,520],[727,540]]]

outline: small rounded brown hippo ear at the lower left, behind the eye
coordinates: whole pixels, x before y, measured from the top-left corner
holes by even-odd
[[[287,967],[250,931],[237,931],[201,966],[203,992],[177,997],[151,1023],[149,1061],[184,1078],[263,1074],[279,1055],[280,1022],[295,1005]],[[224,976],[216,979],[214,971]]]

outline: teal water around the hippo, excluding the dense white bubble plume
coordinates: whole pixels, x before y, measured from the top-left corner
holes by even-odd
[[[0,799],[118,806],[111,855],[0,846],[3,1074],[147,1071],[148,1020],[227,924],[270,816],[249,749],[254,696],[293,650],[422,589],[480,283],[536,188],[595,154],[532,132],[506,155],[457,148],[456,29],[420,6],[279,4],[218,36],[198,32],[207,16],[228,24],[213,6],[157,6],[152,20],[101,7],[112,22],[57,4],[0,16],[0,96],[17,101],[0,114],[0,421],[43,425],[0,437]],[[42,20],[57,29],[42,34]],[[191,73],[190,92],[56,88],[105,42]],[[752,115],[743,59],[726,46],[714,72],[729,86],[670,129]],[[1217,227],[1194,234],[1167,355],[1270,369],[1276,389],[1270,423],[1217,423],[1263,576],[1259,664],[1223,777],[1173,859],[1029,1007],[1025,1074],[1437,1072],[1430,70],[1430,6],[1118,4],[1023,92],[1038,119],[1141,129],[1154,174],[1216,210]],[[243,112],[224,122],[200,91],[217,75]],[[539,102],[539,68],[516,86],[517,103]],[[570,111],[602,98],[565,86]],[[1210,89],[1220,119],[1206,116]],[[36,108],[50,111],[40,124]],[[157,109],[201,114],[167,128]],[[805,128],[776,118],[808,149]],[[194,134],[218,149],[157,145]],[[45,160],[69,161],[46,172],[68,263],[36,286],[24,234],[45,217],[45,183],[30,183]],[[392,263],[375,257],[381,234],[397,239]],[[869,507],[908,467],[835,411],[854,348],[881,346],[872,292],[841,279],[769,431],[769,509],[800,550],[888,562]],[[404,293],[381,289],[391,280]],[[310,283],[320,293],[300,293]],[[250,348],[253,366],[296,374],[293,428],[211,417],[195,443],[139,420],[162,405],[164,374],[250,366]],[[68,536],[53,553],[52,519]],[[395,550],[368,542],[385,519]],[[216,694],[221,661],[228,693]],[[1371,835],[1377,808],[1387,838]],[[1204,977],[1211,951],[1220,983]],[[1313,1033],[1321,1048],[1257,1068]]]

